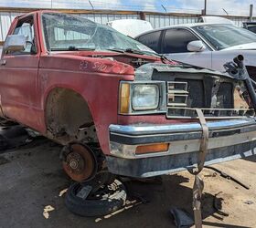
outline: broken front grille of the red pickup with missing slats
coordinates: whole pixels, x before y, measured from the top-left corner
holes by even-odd
[[[202,109],[207,119],[242,118],[249,109],[234,109],[234,86],[231,82],[212,83],[206,88],[200,79],[178,79],[167,83],[167,118],[197,119]],[[216,88],[215,96],[212,96]],[[253,113],[251,114],[253,115]]]

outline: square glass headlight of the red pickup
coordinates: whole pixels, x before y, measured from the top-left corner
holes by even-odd
[[[159,88],[156,85],[136,85],[133,87],[132,107],[134,110],[157,109]]]

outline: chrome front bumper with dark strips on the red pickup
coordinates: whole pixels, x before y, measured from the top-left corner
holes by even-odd
[[[208,130],[206,164],[247,157],[254,153],[256,118],[212,121],[208,122]],[[199,123],[111,125],[108,167],[116,174],[136,177],[183,170],[197,163],[201,138],[202,128]],[[168,142],[169,150],[135,154],[137,146],[161,142]]]

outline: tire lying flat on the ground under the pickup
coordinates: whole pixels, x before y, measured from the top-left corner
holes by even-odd
[[[126,201],[123,183],[114,180],[112,184],[102,186],[97,192],[89,193],[85,199],[80,192],[90,185],[76,182],[70,185],[65,204],[70,212],[81,216],[101,216],[122,208]]]

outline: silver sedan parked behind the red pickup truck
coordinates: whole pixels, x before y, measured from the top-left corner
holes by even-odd
[[[230,24],[197,23],[168,26],[136,39],[166,57],[198,67],[224,71],[223,65],[243,55],[256,79],[256,35]]]

